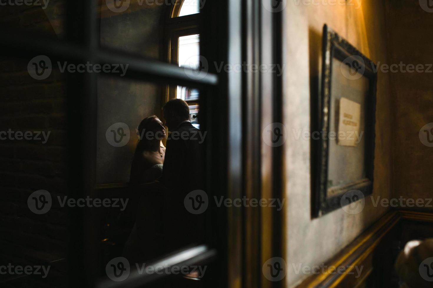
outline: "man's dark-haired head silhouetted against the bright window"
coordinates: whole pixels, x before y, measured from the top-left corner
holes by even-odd
[[[183,121],[189,120],[189,107],[182,99],[173,99],[162,107],[162,114],[170,131],[176,129]]]

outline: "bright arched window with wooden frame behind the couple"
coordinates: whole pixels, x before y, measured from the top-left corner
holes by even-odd
[[[200,34],[198,17],[203,0],[177,0],[171,8],[168,19],[167,60],[180,67],[200,69]],[[181,98],[190,107],[190,121],[199,128],[199,91],[184,86],[168,86],[165,101]]]

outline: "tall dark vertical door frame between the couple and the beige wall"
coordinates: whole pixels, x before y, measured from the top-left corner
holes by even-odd
[[[204,25],[201,25],[211,27],[207,37],[202,34],[203,55],[207,59],[231,64],[244,61],[281,64],[281,13],[264,9],[262,0],[227,0],[226,6],[221,2],[209,4],[202,10]],[[226,40],[226,45],[221,47],[215,39]],[[209,65],[209,72],[217,73]],[[245,72],[222,72],[219,76],[220,92],[206,98],[207,105],[201,105],[207,114],[211,108],[224,111],[220,120],[213,123],[213,129],[225,137],[219,151],[226,158],[211,161],[225,173],[220,170],[212,175],[218,180],[217,184],[216,179],[212,180],[213,189],[226,191],[219,195],[231,199],[242,196],[282,199],[283,149],[270,147],[262,139],[266,126],[283,122],[281,76]],[[220,287],[283,287],[282,281],[271,282],[262,273],[266,260],[284,255],[283,211],[233,207],[219,213],[216,223],[223,229],[216,237],[219,242],[216,246],[226,251],[219,257],[219,265],[226,272],[223,277],[226,285]]]

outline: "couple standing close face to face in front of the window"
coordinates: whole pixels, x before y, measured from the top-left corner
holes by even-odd
[[[164,147],[165,127],[158,117],[147,117],[139,125],[142,137],[132,160],[130,184],[140,198],[136,224],[124,249],[130,262],[151,260],[203,238],[204,217],[184,207],[189,192],[203,189],[203,139],[197,137],[200,130],[191,124],[185,101],[168,101],[162,112],[165,125],[178,137],[168,136]]]

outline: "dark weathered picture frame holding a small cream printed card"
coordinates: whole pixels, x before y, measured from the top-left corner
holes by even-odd
[[[375,152],[375,63],[323,28],[322,85],[312,121],[313,216],[372,193]]]

